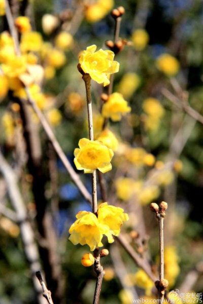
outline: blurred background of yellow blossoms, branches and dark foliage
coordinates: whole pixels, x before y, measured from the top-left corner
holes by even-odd
[[[19,34],[21,51],[30,56],[30,62],[37,57],[43,67],[40,81],[43,95],[36,95],[36,102],[75,171],[73,151],[80,138],[88,137],[85,87],[77,70],[78,54],[93,44],[97,49],[108,49],[106,42],[113,41],[115,28],[111,10],[124,7],[119,34],[122,47],[115,58],[120,70],[114,76],[113,92],[123,95],[131,112],[120,122],[110,120],[108,125],[118,143],[113,169],[104,175],[107,201],[129,214],[129,221],[122,227],[123,236],[148,260],[154,275],[158,267],[158,224],[149,204],[166,201],[168,290],[201,293],[202,2],[10,0],[9,3],[14,19],[28,16],[32,31],[37,32],[24,40],[24,34]],[[0,29],[0,60],[4,64],[5,31],[8,31],[4,14]],[[69,35],[60,36],[61,33]],[[54,303],[89,304],[95,274],[92,267],[84,268],[81,264],[81,257],[89,248],[74,246],[68,240],[68,231],[77,212],[91,211],[91,207],[56,156],[35,113],[28,110],[28,122],[19,102],[23,96],[16,93],[11,83],[5,89],[1,77],[0,144],[20,192],[25,214],[21,220],[29,223],[34,235]],[[103,92],[107,92],[106,88],[92,81],[95,138],[104,122],[100,114]],[[33,88],[34,93],[40,94]],[[30,132],[35,136],[34,142],[30,141]],[[22,221],[9,195],[2,168],[1,161],[0,302],[38,303],[20,231]],[[91,176],[77,173],[91,193]],[[98,199],[101,201],[99,186]],[[136,297],[155,298],[153,282],[125,250],[116,242],[109,246],[105,240],[104,244],[110,255],[101,260],[106,276],[100,303],[128,304]]]

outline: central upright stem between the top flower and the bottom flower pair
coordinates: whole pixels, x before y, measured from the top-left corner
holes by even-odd
[[[88,112],[88,128],[89,128],[89,139],[94,140],[93,133],[93,119],[92,119],[92,102],[91,102],[91,77],[89,74],[83,75],[85,82],[86,98],[87,98],[87,112]],[[96,194],[96,170],[92,173],[92,212],[97,212],[97,194]]]

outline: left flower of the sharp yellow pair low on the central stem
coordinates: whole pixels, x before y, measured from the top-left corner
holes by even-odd
[[[71,225],[69,240],[74,244],[87,244],[93,251],[96,247],[101,247],[104,227],[99,224],[95,214],[87,211],[80,211],[76,215],[77,220]]]

